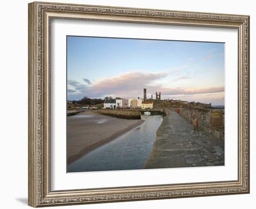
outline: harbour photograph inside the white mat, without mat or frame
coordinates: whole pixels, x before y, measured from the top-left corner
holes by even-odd
[[[225,166],[225,43],[66,43],[67,173]]]

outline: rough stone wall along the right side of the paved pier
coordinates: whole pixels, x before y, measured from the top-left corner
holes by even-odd
[[[191,123],[193,123],[194,119],[197,119],[199,130],[206,131],[224,140],[224,109],[175,108],[175,111]]]

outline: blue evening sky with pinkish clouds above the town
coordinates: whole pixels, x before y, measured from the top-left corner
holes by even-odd
[[[67,100],[180,99],[224,105],[224,43],[67,36]]]

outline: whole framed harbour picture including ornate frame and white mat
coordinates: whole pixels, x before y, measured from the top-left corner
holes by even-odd
[[[249,16],[28,5],[28,204],[249,193]]]

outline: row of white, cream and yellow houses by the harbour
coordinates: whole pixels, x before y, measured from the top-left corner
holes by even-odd
[[[153,101],[144,101],[141,98],[108,99],[104,101],[104,108],[152,109]]]

